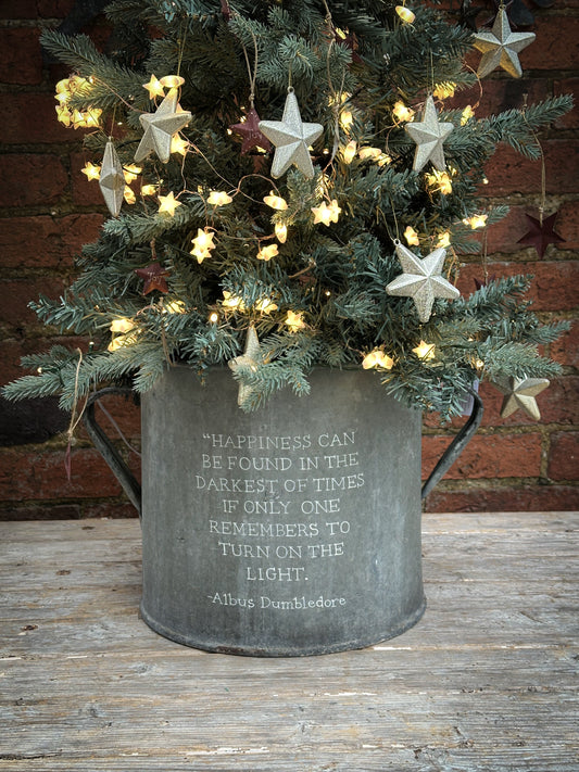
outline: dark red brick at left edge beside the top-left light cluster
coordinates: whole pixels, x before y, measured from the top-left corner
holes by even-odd
[[[5,144],[78,142],[81,135],[58,122],[55,104],[49,93],[11,93],[4,100],[7,122],[2,141]]]

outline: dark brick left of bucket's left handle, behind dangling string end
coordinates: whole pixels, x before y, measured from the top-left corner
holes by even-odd
[[[72,452],[66,478],[64,450],[0,448],[0,501],[93,498],[116,496],[121,486],[93,448]]]

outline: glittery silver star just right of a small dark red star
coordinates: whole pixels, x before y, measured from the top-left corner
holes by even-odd
[[[281,177],[293,164],[312,179],[314,165],[310,157],[309,145],[320,136],[320,124],[304,124],[300,114],[298,98],[292,88],[288,89],[281,121],[260,121],[260,129],[276,148],[272,163],[272,177]]]

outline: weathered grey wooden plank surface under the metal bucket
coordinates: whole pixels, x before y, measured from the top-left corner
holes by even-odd
[[[0,523],[0,770],[579,770],[577,512],[426,515],[428,608],[361,651],[140,621],[135,520]]]

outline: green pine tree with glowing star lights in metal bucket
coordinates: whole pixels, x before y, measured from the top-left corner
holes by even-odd
[[[463,65],[473,36],[430,8],[415,13],[407,24],[385,0],[116,0],[108,55],[86,36],[46,31],[43,46],[74,71],[59,85],[59,117],[95,126],[85,144],[97,162],[114,134],[123,170],[113,167],[109,197],[125,203],[83,249],[65,295],[32,304],[47,325],[90,337],[90,351],[25,357],[37,375],[4,394],[58,393],[71,409],[106,382],[147,390],[177,362],[202,376],[235,359],[250,328],[259,360],[232,374],[250,387],[243,409],[285,385],[305,394],[313,366],[376,366],[387,392],[443,416],[477,378],[556,374],[537,346],[564,326],[539,324],[528,277],[469,298],[449,290],[421,315],[415,296],[387,291],[411,246],[416,258],[445,255],[452,290],[476,224],[506,213],[477,200],[484,162],[501,142],[539,157],[537,131],[570,107],[559,97],[482,119],[444,110],[449,90],[476,80]],[[319,136],[312,173],[295,156],[274,177],[278,151],[264,135],[288,93]],[[432,96],[452,130],[442,166],[417,167],[405,127]],[[182,123],[167,159],[140,119],[162,103],[173,116],[164,140]]]

